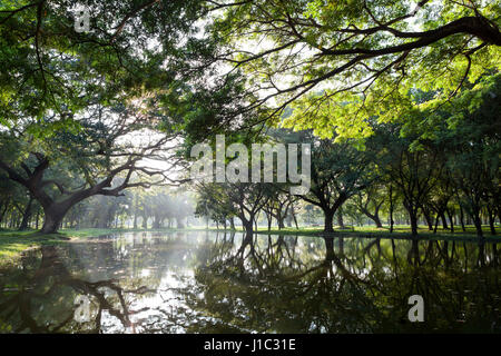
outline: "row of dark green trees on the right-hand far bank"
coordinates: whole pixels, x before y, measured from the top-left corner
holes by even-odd
[[[363,149],[350,140],[320,139],[311,131],[277,131],[273,136],[283,142],[312,144],[310,192],[291,197],[279,184],[203,185],[197,211],[223,224],[239,217],[252,231],[257,208],[266,215],[268,229],[272,219],[283,228],[283,218],[287,214],[296,218],[289,209],[302,200],[322,211],[325,233],[333,231],[336,216],[343,227],[346,207],[344,214],[353,221],[365,216],[376,227],[383,227],[385,210],[391,231],[395,214],[403,211],[406,217],[401,221],[413,235],[420,221],[434,233],[439,224],[451,233],[454,226],[464,231],[465,225],[474,225],[478,236],[487,224],[495,235],[501,218],[500,95],[500,77],[488,76],[477,89],[439,108],[413,109],[401,122],[374,120],[374,135]],[[204,208],[207,201],[210,211]]]

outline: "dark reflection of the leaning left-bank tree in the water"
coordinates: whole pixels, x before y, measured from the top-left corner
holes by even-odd
[[[24,266],[32,268],[31,266]],[[39,266],[35,268],[31,278],[20,286],[19,293],[0,303],[0,314],[3,320],[13,322],[11,332],[20,333],[57,333],[57,332],[90,332],[99,333],[102,312],[116,317],[125,328],[134,327],[130,316],[143,312],[131,310],[127,303],[127,295],[143,295],[146,287],[125,289],[117,280],[87,281],[72,275],[61,260],[53,246],[41,248]],[[92,300],[97,310],[92,310],[94,318],[79,325],[73,320],[77,305],[72,305],[76,295],[85,295]],[[43,315],[43,300],[50,299],[60,305],[55,307],[65,310],[58,320],[48,320]],[[41,304],[42,303],[42,304]],[[40,305],[39,308],[36,308]],[[53,318],[53,315],[49,319]],[[89,327],[91,326],[91,327]]]

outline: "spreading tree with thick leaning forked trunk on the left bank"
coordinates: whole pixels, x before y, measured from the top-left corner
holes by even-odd
[[[144,159],[164,160],[165,145],[177,134],[151,136],[151,120],[128,110],[99,108],[96,116],[80,120],[85,130],[77,134],[59,131],[40,141],[28,129],[2,132],[0,169],[41,205],[41,231],[55,233],[68,210],[84,199],[166,181],[166,169],[147,168]],[[131,144],[132,136],[143,139]]]

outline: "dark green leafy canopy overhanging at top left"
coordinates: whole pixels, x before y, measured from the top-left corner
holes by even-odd
[[[90,16],[88,31],[76,31],[73,11],[81,6]],[[50,135],[78,125],[72,116],[89,102],[120,102],[168,88],[171,70],[183,77],[180,65],[203,51],[193,37],[200,11],[200,3],[189,0],[3,1],[0,123],[12,127],[56,112],[51,125],[31,128]]]

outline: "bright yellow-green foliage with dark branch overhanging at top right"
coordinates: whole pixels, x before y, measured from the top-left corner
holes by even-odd
[[[498,68],[500,8],[481,1],[210,1],[219,58],[242,70],[263,120],[301,102],[286,125],[332,137],[365,137],[365,121],[397,118],[411,89],[459,92]],[[314,91],[322,90],[318,96]],[[335,115],[318,118],[331,107]]]

